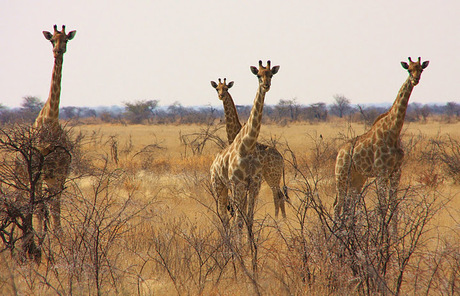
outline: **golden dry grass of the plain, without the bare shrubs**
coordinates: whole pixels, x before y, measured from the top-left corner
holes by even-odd
[[[315,240],[321,241],[320,230],[316,232],[308,229],[317,227],[316,223],[319,223],[315,212],[308,210],[306,221],[300,220],[299,209],[302,208],[305,193],[302,190],[306,183],[299,178],[299,171],[305,174],[308,184],[314,184],[315,194],[321,197],[324,208],[332,212],[335,198],[334,151],[344,138],[363,133],[364,125],[333,122],[262,127],[261,141],[276,143],[277,148],[285,155],[286,183],[292,192],[292,204],[287,209],[288,218],[285,221],[276,221],[272,218],[274,205],[271,191],[266,184],[262,185],[255,226],[256,242],[259,246],[257,272],[251,270],[251,258],[254,256],[251,257],[250,249],[242,247],[235,253],[229,249],[232,245],[223,241],[225,236],[221,233],[222,229],[215,214],[215,200],[208,190],[209,167],[219,148],[209,143],[201,155],[192,155],[179,140],[180,134],[196,133],[201,128],[202,126],[197,125],[87,125],[73,128],[75,134],[81,132],[85,135],[83,155],[90,161],[98,159],[96,168],[108,164],[111,171],[123,172],[123,177],[117,179],[111,187],[116,194],[107,210],[116,212],[123,202],[130,201],[130,212],[123,213],[127,215],[123,216],[125,223],[117,229],[119,235],[114,238],[113,245],[110,245],[110,251],[106,254],[111,256],[109,265],[113,270],[110,271],[111,279],[104,278],[100,282],[104,284],[100,290],[102,294],[355,293],[357,290],[353,289],[356,284],[352,279],[331,279],[331,275],[340,273],[341,268],[344,269],[344,274],[350,272],[340,266],[334,266],[336,270],[331,269],[332,259],[327,252],[328,248],[316,244]],[[422,274],[422,267],[438,262],[437,273],[431,267],[423,270],[426,273],[433,272],[433,275],[439,277],[436,282],[439,286],[433,286],[433,291],[441,291],[446,295],[459,291],[459,284],[454,280],[452,293],[445,292],[448,291],[449,283],[441,280],[441,270],[443,274],[445,272],[446,276],[454,279],[458,280],[460,277],[458,270],[455,270],[458,267],[458,261],[455,264],[458,251],[452,251],[460,245],[460,186],[445,176],[440,164],[421,162],[420,155],[430,139],[446,134],[455,137],[459,128],[460,123],[429,122],[406,123],[403,130],[403,142],[409,153],[403,168],[401,187],[419,188],[423,190],[423,194],[436,195],[438,204],[445,204],[429,222],[427,229],[430,231],[424,234],[423,248],[417,253],[411,271],[419,270],[419,276],[425,280],[429,275]],[[220,129],[216,134],[226,139],[224,132],[224,129]],[[460,140],[460,136],[457,136],[457,140]],[[294,161],[288,148],[296,156],[295,165],[299,171],[291,165]],[[321,155],[318,157],[318,154]],[[104,157],[107,162],[103,161]],[[434,175],[436,176],[433,177]],[[92,196],[95,182],[97,180],[89,176],[76,180],[75,186],[82,192],[80,196]],[[73,219],[73,206],[69,202],[64,209],[63,217],[67,221]],[[129,216],[130,214],[133,216]],[[307,230],[301,230],[302,227]],[[308,241],[302,242],[301,238],[305,237]],[[308,245],[308,252],[303,249],[305,245]],[[50,249],[52,248],[57,248],[55,243],[50,245]],[[59,253],[56,250],[54,252]],[[435,255],[429,255],[430,252]],[[235,254],[244,254],[243,259],[239,261]],[[308,258],[303,257],[305,255]],[[7,266],[0,272],[1,294],[46,295],[70,292],[86,295],[95,294],[98,290],[90,280],[93,276],[90,273],[79,274],[74,279],[75,286],[71,290],[67,273],[60,270],[61,274],[58,274],[59,267],[55,268],[54,276],[44,277],[43,274],[49,271],[46,264],[40,267],[33,264],[17,265],[14,260],[7,258],[6,253],[3,253],[0,262],[2,266]],[[313,269],[306,271],[306,266]],[[312,277],[306,277],[306,274]],[[416,274],[411,272],[406,278],[403,284],[404,293],[416,295],[421,291],[414,288]],[[254,281],[256,285],[253,284]],[[333,287],[335,281],[348,284],[338,289]],[[423,282],[421,279],[418,281]],[[86,283],[86,286],[82,283]],[[442,286],[443,283],[447,286]]]

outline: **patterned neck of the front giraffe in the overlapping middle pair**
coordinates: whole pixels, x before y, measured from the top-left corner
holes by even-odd
[[[262,123],[265,93],[266,91],[262,88],[262,85],[259,85],[248,122],[239,133],[241,135],[241,143],[239,145],[240,155],[247,155],[253,152],[256,147]]]

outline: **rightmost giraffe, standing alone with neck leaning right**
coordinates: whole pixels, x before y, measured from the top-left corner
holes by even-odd
[[[404,157],[400,134],[409,97],[428,64],[429,61],[421,63],[420,57],[416,62],[409,57],[409,64],[401,62],[402,67],[408,70],[409,77],[401,86],[393,106],[377,117],[369,131],[348,141],[339,149],[335,166],[337,186],[335,219],[341,214],[345,216],[345,212],[349,210],[350,197],[347,194],[356,197],[360,194],[366,180],[374,177],[377,181],[377,195],[381,206],[386,205],[388,189],[388,206],[390,215],[394,215],[393,229],[396,229],[396,190],[401,178],[401,164]],[[384,213],[382,209],[380,211]]]

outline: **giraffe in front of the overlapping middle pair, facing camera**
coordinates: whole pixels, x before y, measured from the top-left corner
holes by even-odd
[[[231,145],[217,154],[211,165],[211,188],[214,196],[218,198],[218,212],[225,226],[228,226],[229,217],[227,207],[229,205],[228,190],[231,191],[231,202],[235,204],[235,218],[238,228],[243,227],[243,221],[251,233],[254,216],[255,198],[261,185],[260,160],[255,157],[254,151],[259,136],[265,94],[270,90],[271,79],[279,66],[251,66],[251,72],[259,79],[259,87],[254,105],[246,124],[235,137]],[[249,204],[248,204],[249,201]]]

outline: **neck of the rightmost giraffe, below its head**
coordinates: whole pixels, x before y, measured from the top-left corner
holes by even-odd
[[[409,98],[413,89],[414,86],[410,81],[410,77],[408,77],[404,84],[401,86],[401,89],[398,92],[398,96],[396,97],[396,100],[388,113],[390,119],[389,129],[392,130],[395,135],[399,136],[401,133],[404,124],[404,118],[406,117],[407,105],[409,103]]]

